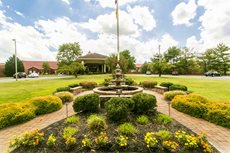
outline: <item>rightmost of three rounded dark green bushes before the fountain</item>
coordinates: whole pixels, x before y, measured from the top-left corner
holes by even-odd
[[[133,95],[132,100],[135,103],[134,112],[137,114],[146,113],[147,111],[155,111],[156,97],[146,93],[138,93]]]

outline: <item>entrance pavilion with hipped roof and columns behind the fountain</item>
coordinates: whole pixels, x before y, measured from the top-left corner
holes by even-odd
[[[90,73],[106,73],[109,68],[105,64],[107,56],[98,53],[91,53],[80,56],[77,62],[86,67],[86,72]]]

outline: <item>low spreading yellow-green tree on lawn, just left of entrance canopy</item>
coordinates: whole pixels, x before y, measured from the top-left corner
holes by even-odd
[[[75,77],[78,76],[78,74],[81,74],[85,71],[85,67],[78,62],[72,62],[70,65],[63,64],[58,67],[57,72],[58,73],[64,73],[64,74],[71,74]]]

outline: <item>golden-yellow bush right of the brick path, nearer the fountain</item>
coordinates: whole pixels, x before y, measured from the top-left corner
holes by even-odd
[[[202,118],[208,111],[205,105],[207,102],[206,98],[195,94],[178,95],[172,100],[172,107],[194,117]]]

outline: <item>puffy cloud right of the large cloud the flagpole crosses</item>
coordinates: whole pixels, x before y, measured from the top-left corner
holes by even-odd
[[[128,13],[134,19],[135,23],[142,26],[144,30],[151,31],[156,27],[154,16],[146,6],[128,7]]]

